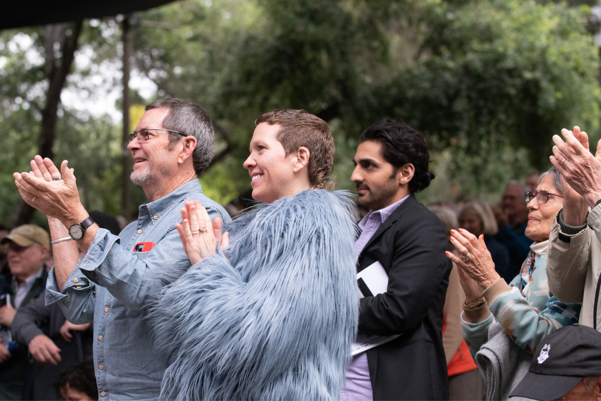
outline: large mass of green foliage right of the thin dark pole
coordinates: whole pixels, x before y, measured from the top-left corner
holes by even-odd
[[[240,191],[252,121],[273,108],[331,123],[338,188],[353,188],[351,144],[365,127],[384,117],[418,127],[433,155],[450,155],[439,174],[450,182],[432,199],[498,195],[549,165],[562,127],[599,129],[597,49],[586,9],[566,3],[189,1],[144,19],[177,28],[138,32],[141,68],[159,94],[216,118],[216,148],[232,149],[221,164]]]

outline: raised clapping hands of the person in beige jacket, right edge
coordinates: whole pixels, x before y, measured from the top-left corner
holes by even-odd
[[[564,128],[561,135],[566,142],[559,135],[554,135],[553,156],[549,159],[566,182],[592,208],[601,198],[601,140],[597,144],[596,156],[593,156],[588,150],[588,135],[581,132],[580,127],[575,126],[573,131]]]

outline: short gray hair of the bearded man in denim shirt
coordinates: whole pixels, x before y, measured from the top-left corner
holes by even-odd
[[[213,144],[215,143],[215,131],[213,123],[201,106],[195,105],[189,100],[168,98],[159,99],[146,106],[145,110],[157,108],[169,109],[169,114],[163,120],[163,127],[185,135],[196,138],[196,148],[192,153],[192,165],[194,171],[200,176],[207,170],[213,159]],[[182,138],[175,132],[169,132],[169,143],[175,144]]]

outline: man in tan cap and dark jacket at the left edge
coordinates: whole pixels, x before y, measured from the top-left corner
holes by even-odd
[[[13,341],[10,328],[17,309],[43,294],[50,238],[43,228],[24,224],[0,241],[2,245],[7,243],[10,276],[0,279],[0,284],[4,281],[4,289],[0,288],[0,399],[20,400],[25,387],[27,347]]]

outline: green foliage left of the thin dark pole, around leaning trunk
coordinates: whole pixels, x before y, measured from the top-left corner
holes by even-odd
[[[96,31],[96,33],[95,33]],[[107,51],[110,43],[96,28],[84,29],[85,48]],[[86,39],[87,37],[87,39]],[[108,35],[110,38],[111,35]],[[82,38],[80,38],[82,40]],[[14,185],[15,171],[29,171],[29,161],[38,149],[40,135],[40,110],[45,102],[47,80],[44,78],[44,30],[11,30],[0,34],[0,222],[10,224],[20,195]],[[104,49],[104,50],[103,50]],[[99,55],[94,62],[100,63]],[[71,85],[93,93],[94,87],[84,87],[81,78],[91,73],[89,67],[76,70],[71,75]],[[120,211],[120,132],[108,117],[93,117],[89,112],[59,108],[55,164],[63,159],[75,168],[82,202],[88,210],[103,210],[117,214]],[[115,169],[117,166],[117,169]],[[143,194],[142,194],[143,195]],[[35,224],[46,225],[45,216],[34,215]]]

